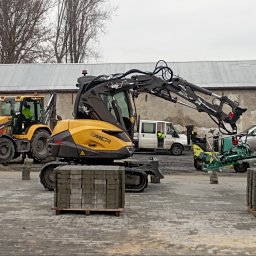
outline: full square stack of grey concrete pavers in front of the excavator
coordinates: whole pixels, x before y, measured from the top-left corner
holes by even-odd
[[[125,203],[125,173],[119,166],[66,165],[56,169],[54,207],[119,209]]]

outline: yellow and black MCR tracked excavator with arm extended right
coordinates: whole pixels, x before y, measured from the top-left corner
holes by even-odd
[[[54,169],[59,165],[123,165],[126,191],[132,192],[144,190],[148,174],[163,178],[154,161],[122,160],[132,156],[134,151],[134,98],[140,93],[208,113],[220,129],[228,133],[237,132],[236,122],[246,111],[226,96],[218,96],[174,76],[163,61],[159,61],[152,72],[132,69],[97,77],[84,72],[77,86],[74,120],[59,121],[49,140],[50,154],[58,161],[46,164],[40,172],[40,181],[49,190],[54,189]],[[212,103],[200,96],[202,94],[214,97]]]

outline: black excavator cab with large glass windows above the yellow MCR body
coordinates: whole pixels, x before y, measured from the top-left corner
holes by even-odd
[[[133,138],[135,111],[129,90],[116,84],[102,86],[93,76],[78,79],[79,87],[74,104],[75,119],[95,119],[111,123]]]

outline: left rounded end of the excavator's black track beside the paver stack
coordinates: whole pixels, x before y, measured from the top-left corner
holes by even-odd
[[[40,172],[40,182],[44,188],[53,191],[55,187],[55,173],[54,168],[58,165],[50,164],[45,166]]]

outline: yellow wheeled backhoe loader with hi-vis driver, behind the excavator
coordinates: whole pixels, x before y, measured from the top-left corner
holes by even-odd
[[[0,96],[0,163],[21,155],[44,162],[55,115],[56,94],[50,96],[46,108],[43,96]]]

